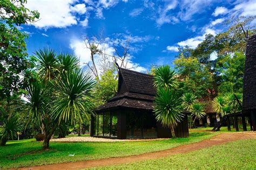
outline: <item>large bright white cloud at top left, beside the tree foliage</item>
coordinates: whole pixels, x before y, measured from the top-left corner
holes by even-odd
[[[72,15],[70,6],[76,0],[30,0],[26,8],[38,10],[40,20],[35,23],[38,28],[48,29],[49,27],[66,27],[76,25],[76,17]]]

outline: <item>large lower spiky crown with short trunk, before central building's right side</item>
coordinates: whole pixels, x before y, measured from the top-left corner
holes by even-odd
[[[175,137],[174,126],[180,122],[184,115],[181,113],[181,100],[172,89],[159,88],[154,102],[154,114],[163,126],[171,128],[172,136]]]

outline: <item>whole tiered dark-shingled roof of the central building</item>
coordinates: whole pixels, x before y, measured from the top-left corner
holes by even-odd
[[[154,77],[133,70],[119,68],[117,95],[100,105],[97,112],[114,108],[153,109],[156,88],[153,86]]]

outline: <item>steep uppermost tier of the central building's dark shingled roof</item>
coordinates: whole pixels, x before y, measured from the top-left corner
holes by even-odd
[[[131,93],[156,95],[156,88],[153,86],[154,77],[152,75],[124,68],[119,68],[119,72],[119,75],[122,76],[124,80],[127,91]]]

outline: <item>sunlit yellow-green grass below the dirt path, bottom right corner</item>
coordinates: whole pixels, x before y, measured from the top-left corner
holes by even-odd
[[[238,140],[186,154],[97,169],[256,169],[256,139]]]

